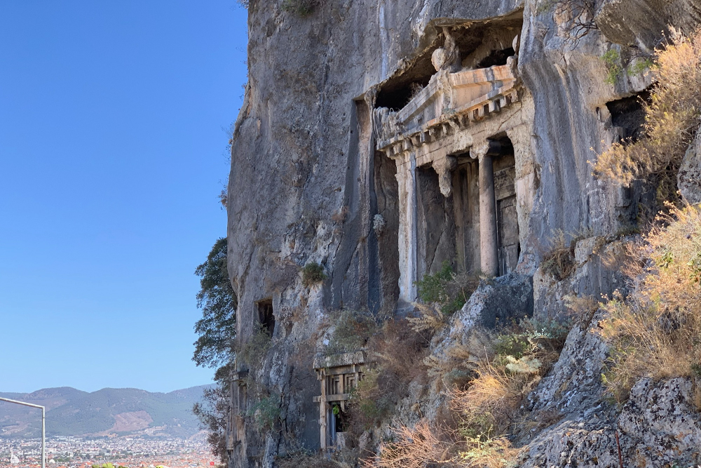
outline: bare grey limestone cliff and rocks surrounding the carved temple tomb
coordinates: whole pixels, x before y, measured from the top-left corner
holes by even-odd
[[[634,225],[639,207],[651,203],[651,187],[597,180],[588,161],[639,129],[636,95],[651,78],[635,64],[669,27],[688,33],[701,20],[697,0],[330,0],[309,2],[308,14],[290,8],[297,3],[252,0],[249,7],[249,83],[232,140],[228,199],[240,347],[263,321],[263,305],[271,305],[274,322],[261,362],[239,363],[232,387],[232,467],[271,467],[278,455],[319,447],[312,362],[330,312],[394,314],[407,306],[397,286],[407,274],[397,260],[404,188],[393,182],[394,161],[376,152],[374,116],[402,107],[412,83],[429,83],[431,56],[446,34],[457,38],[466,68],[513,44],[521,86],[505,132],[515,159],[518,266],[501,288],[478,290],[474,307],[454,316],[445,340],[461,340],[475,316],[557,316],[567,295],[599,297],[623,286],[616,267],[601,261],[597,239]],[[432,222],[434,231],[449,232]],[[540,265],[559,232],[582,239],[576,271],[562,281]],[[304,281],[310,262],[324,268],[322,283]],[[479,297],[486,299],[477,304]],[[521,466],[618,466],[616,434],[626,467],[699,462],[690,382],[646,380],[623,408],[607,403],[600,382],[606,348],[590,331],[592,320],[571,331],[530,397],[531,409],[557,410],[562,419],[522,441]],[[435,342],[432,352],[445,346]],[[273,430],[254,424],[261,395],[279,408]]]

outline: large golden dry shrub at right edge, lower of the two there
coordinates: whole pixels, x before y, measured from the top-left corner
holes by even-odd
[[[599,323],[611,345],[604,383],[619,401],[639,377],[701,377],[701,208],[668,208],[631,246],[631,293],[617,291]]]

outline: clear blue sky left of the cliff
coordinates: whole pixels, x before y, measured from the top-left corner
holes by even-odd
[[[0,391],[211,382],[246,40],[236,0],[0,0]]]

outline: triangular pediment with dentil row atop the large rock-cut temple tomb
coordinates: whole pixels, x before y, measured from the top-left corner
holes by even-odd
[[[462,70],[440,70],[396,112],[375,109],[376,148],[390,157],[441,140],[519,100],[516,62]]]

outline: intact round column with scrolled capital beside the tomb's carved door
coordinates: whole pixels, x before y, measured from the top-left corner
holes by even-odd
[[[491,160],[493,154],[498,154],[496,145],[496,142],[484,142],[470,149],[470,155],[479,158],[479,266],[487,276],[499,274],[496,197]]]

